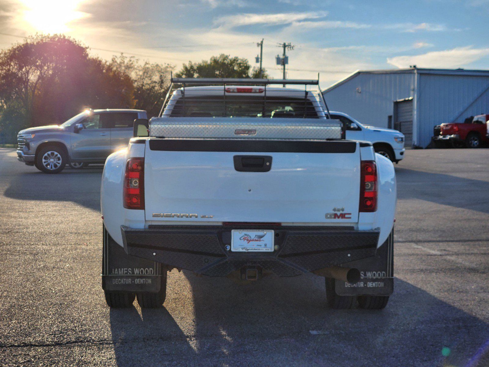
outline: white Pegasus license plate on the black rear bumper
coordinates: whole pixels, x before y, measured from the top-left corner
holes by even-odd
[[[274,231],[271,229],[233,229],[231,231],[231,251],[272,252]]]

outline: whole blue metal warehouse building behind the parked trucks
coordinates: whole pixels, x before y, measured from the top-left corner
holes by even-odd
[[[489,70],[358,70],[323,94],[330,110],[400,130],[406,147],[424,148],[435,125],[489,113]]]

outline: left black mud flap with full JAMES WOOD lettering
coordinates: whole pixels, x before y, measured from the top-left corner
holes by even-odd
[[[104,226],[102,288],[104,291],[159,292],[161,264],[128,255]]]

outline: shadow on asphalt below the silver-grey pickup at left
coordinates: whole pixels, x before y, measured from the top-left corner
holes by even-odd
[[[8,186],[3,195],[27,201],[73,202],[100,211],[101,178],[99,168],[66,169],[56,175],[34,169],[7,178]]]

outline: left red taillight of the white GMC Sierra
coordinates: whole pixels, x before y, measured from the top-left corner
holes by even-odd
[[[144,158],[130,158],[124,178],[124,207],[144,209]]]

